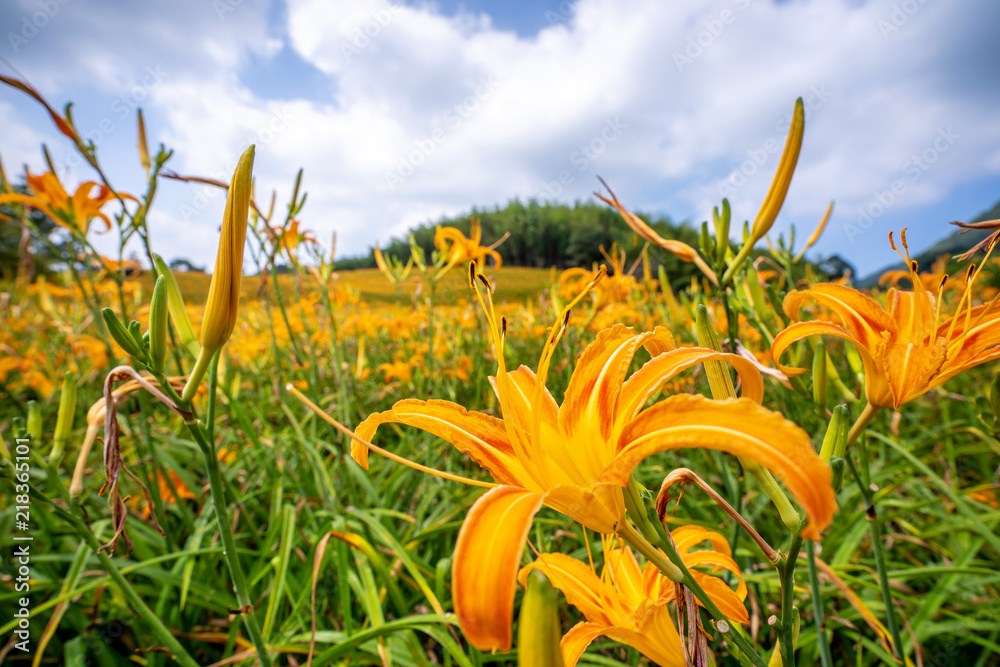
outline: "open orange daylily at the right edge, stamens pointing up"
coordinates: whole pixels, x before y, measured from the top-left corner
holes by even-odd
[[[943,317],[941,293],[947,276],[939,279],[937,294],[928,289],[917,273],[916,262],[910,259],[905,229],[901,236],[913,288],[891,288],[884,307],[855,289],[830,283],[785,296],[784,309],[790,318],[798,319],[802,306],[816,303],[829,309],[839,324],[825,320],[796,322],[779,333],[771,345],[771,357],[783,373],[792,376],[805,372],[779,363],[781,354],[795,341],[815,335],[841,338],[861,355],[868,403],[873,408],[895,409],[968,368],[1000,357],[997,299],[972,305],[973,283],[996,243],[990,246],[978,269],[975,265],[969,267],[955,313]],[[892,234],[889,241],[895,249]]]

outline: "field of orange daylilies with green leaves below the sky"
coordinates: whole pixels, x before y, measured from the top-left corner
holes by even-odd
[[[801,100],[742,234],[723,201],[699,248],[661,238],[605,186],[632,266],[503,266],[474,222],[338,272],[301,173],[282,219],[253,147],[179,176],[140,115],[125,194],[2,80],[95,181],[0,182],[30,241],[0,294],[0,662],[1000,664],[997,237],[949,276],[890,235],[909,270],[867,292],[803,259],[832,205],[772,244]],[[228,190],[211,276],[149,242],[162,178]]]

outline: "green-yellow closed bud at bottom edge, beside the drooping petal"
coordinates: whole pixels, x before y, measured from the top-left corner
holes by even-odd
[[[561,636],[556,589],[541,570],[532,570],[518,621],[518,666],[563,667]]]

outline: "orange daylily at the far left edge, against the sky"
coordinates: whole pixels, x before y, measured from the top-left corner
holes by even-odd
[[[79,232],[86,236],[90,231],[90,223],[94,218],[100,218],[104,222],[104,231],[111,229],[111,220],[101,212],[109,201],[115,199],[115,195],[106,185],[99,185],[93,181],[81,183],[76,192],[70,196],[55,174],[46,172],[44,174],[26,173],[28,189],[33,194],[22,195],[16,192],[0,195],[0,204],[27,204],[36,208],[62,227],[70,231]],[[93,194],[94,188],[98,188],[97,194]],[[122,199],[135,197],[122,194]]]

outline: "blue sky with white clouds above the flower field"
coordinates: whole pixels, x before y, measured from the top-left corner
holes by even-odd
[[[257,144],[257,190],[341,255],[518,197],[591,198],[698,223],[723,196],[753,219],[795,98],[808,108],[775,232],[861,274],[1000,199],[1000,3],[990,0],[10,0],[0,56],[136,190],[135,109],[169,167],[228,179]],[[0,89],[8,174],[90,180],[30,100]],[[775,146],[778,149],[775,149]],[[218,193],[164,182],[154,246],[211,264]],[[111,248],[111,239],[96,237]],[[800,236],[802,238],[802,236]]]

